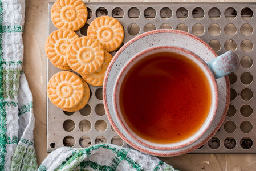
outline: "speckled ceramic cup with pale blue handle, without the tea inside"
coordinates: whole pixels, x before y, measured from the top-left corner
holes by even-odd
[[[129,128],[129,125],[125,121],[123,114],[120,109],[120,88],[123,83],[123,80],[125,78],[125,75],[129,73],[129,70],[138,62],[145,58],[147,58],[148,55],[155,54],[157,52],[172,52],[176,54],[181,54],[182,56],[185,56],[185,58],[188,58],[190,60],[193,60],[194,63],[197,64],[201,68],[201,70],[204,72],[208,83],[210,85],[210,91],[212,95],[212,102],[210,104],[210,110],[206,117],[206,120],[204,124],[202,124],[201,128],[198,129],[196,133],[193,133],[193,135],[190,135],[185,140],[181,140],[175,143],[153,143],[149,140],[145,140],[139,135],[137,135],[135,132],[132,131],[131,128]],[[156,58],[157,59],[157,58]],[[185,146],[188,146],[192,143],[194,143],[196,140],[198,140],[209,128],[210,124],[214,120],[214,116],[216,115],[217,107],[218,107],[218,88],[216,79],[221,78],[222,76],[225,76],[227,74],[230,74],[234,70],[236,70],[239,67],[239,60],[237,58],[237,55],[234,54],[232,51],[227,51],[225,54],[222,54],[221,56],[218,56],[217,58],[210,60],[210,62],[205,63],[203,59],[201,59],[199,56],[194,54],[193,52],[186,50],[185,48],[181,48],[178,46],[153,46],[149,47],[143,51],[140,51],[136,55],[132,56],[130,60],[128,60],[127,63],[123,66],[123,68],[120,70],[119,75],[117,76],[114,91],[113,91],[113,107],[117,115],[117,120],[119,121],[121,127],[129,134],[129,136],[132,137],[135,141],[137,141],[139,144],[147,146],[151,149],[157,149],[157,150],[172,150],[172,149],[180,149],[184,148]]]

